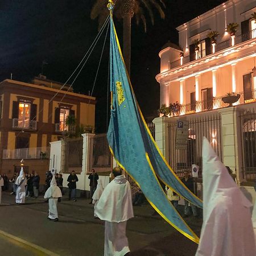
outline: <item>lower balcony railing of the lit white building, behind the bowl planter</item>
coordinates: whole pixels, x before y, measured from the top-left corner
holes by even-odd
[[[250,92],[240,92],[240,99],[233,104],[241,105],[251,102],[256,102],[256,90],[251,90]],[[207,101],[196,101],[195,103],[180,105],[179,109],[172,111],[171,117],[176,117],[184,114],[192,114],[197,112],[204,112],[213,109],[226,108],[229,104],[224,103],[221,99],[225,96],[213,97],[212,100]]]

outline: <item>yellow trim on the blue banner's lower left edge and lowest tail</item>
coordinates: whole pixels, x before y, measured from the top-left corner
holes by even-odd
[[[138,181],[134,179],[134,177],[129,173],[129,171],[126,170],[126,168],[117,160],[117,158],[115,157],[114,155],[114,151],[112,150],[112,148],[109,146],[109,150],[111,152],[111,154],[113,155],[115,161],[117,162],[118,166],[120,166],[124,171],[127,172],[127,174],[135,181],[135,183],[138,185],[139,188],[141,188],[141,186],[139,185]],[[156,174],[155,174],[155,171],[154,169],[152,168],[152,164],[150,162],[150,159],[146,153],[146,159],[148,161],[148,164],[150,165],[150,168],[151,168],[151,171],[153,172],[159,186],[161,187],[157,177],[156,177]],[[162,188],[163,189],[163,188]],[[145,196],[145,195],[144,195]],[[146,196],[145,196],[146,197]],[[166,195],[167,197],[167,195]],[[177,212],[177,210],[174,208],[174,206],[172,205],[172,207],[175,209],[175,211],[177,212],[177,214],[180,216],[181,220],[184,222],[185,226],[187,226],[188,230],[191,231],[191,233],[195,236],[195,237],[192,237],[190,236],[188,233],[184,232],[183,230],[181,230],[180,228],[178,228],[176,225],[174,225],[162,212],[160,212],[160,210],[152,203],[152,201],[150,201],[147,197],[146,197],[148,203],[150,203],[150,205],[156,210],[156,212],[158,212],[160,214],[160,216],[162,218],[164,218],[164,220],[166,220],[168,222],[168,224],[170,224],[171,226],[173,226],[176,230],[178,230],[181,234],[183,234],[185,237],[189,238],[191,241],[195,242],[195,243],[199,243],[199,237],[196,236],[196,234],[193,232],[193,230],[191,228],[189,228],[189,226],[187,225],[187,223],[183,220],[183,218],[180,216],[180,214]],[[168,198],[167,198],[168,199]],[[168,200],[169,201],[169,200]],[[169,201],[170,202],[170,201]],[[171,202],[170,202],[171,204]]]

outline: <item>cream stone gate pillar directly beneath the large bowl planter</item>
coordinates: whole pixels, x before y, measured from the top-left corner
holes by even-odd
[[[236,106],[218,110],[221,115],[221,136],[223,163],[236,171],[237,183],[242,178],[242,145],[239,115],[242,109]]]

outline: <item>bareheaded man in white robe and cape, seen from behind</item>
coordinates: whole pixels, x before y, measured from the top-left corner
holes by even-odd
[[[134,217],[131,188],[121,168],[115,167],[112,174],[114,179],[105,187],[95,212],[105,221],[104,256],[123,256],[130,251],[126,223]]]

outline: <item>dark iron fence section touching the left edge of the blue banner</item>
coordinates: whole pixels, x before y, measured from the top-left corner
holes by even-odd
[[[92,168],[96,172],[108,172],[113,168],[113,157],[109,150],[106,133],[96,134],[93,138]]]

